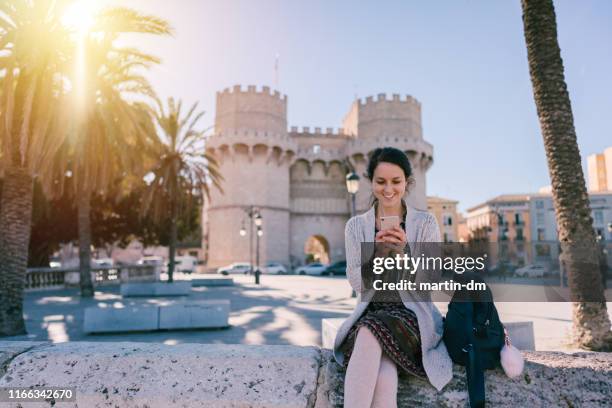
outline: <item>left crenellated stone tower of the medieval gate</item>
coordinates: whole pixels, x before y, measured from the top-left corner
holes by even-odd
[[[287,134],[287,97],[239,85],[217,93],[215,131],[207,151],[219,162],[223,193],[212,189],[208,209],[209,266],[249,261],[249,237],[239,236],[244,209],[264,219],[261,263],[289,261],[289,165],[295,142]],[[249,230],[249,222],[245,224]],[[255,238],[253,238],[255,245]]]

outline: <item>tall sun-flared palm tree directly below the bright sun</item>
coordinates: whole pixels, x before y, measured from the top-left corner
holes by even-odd
[[[142,141],[154,132],[143,98],[154,91],[140,71],[160,61],[134,48],[118,47],[126,33],[170,34],[167,22],[134,10],[101,11],[80,38],[81,70],[75,73],[76,115],[62,161],[70,167],[78,197],[81,296],[92,296],[91,197],[104,193],[117,178],[139,172]],[[68,160],[66,160],[68,159]]]

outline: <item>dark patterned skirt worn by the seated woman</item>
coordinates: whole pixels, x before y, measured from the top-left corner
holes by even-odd
[[[342,345],[344,369],[353,352],[360,327],[367,327],[385,353],[398,367],[399,374],[427,378],[421,354],[421,336],[414,312],[399,302],[370,302]]]

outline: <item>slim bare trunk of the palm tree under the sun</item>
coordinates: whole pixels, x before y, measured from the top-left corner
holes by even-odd
[[[91,194],[86,188],[79,188],[79,282],[81,297],[92,297],[94,294],[91,282]]]

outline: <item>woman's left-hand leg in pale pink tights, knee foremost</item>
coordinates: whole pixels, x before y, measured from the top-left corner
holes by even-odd
[[[381,355],[376,337],[367,327],[361,327],[344,377],[345,408],[370,408]]]

